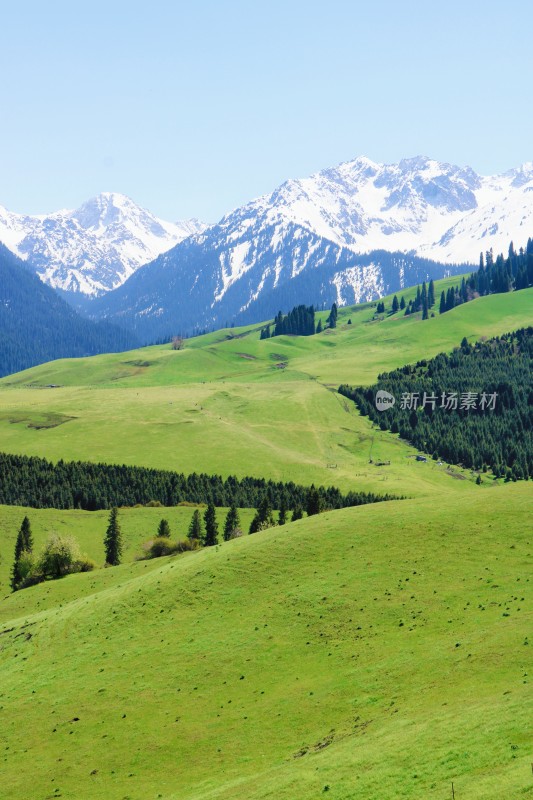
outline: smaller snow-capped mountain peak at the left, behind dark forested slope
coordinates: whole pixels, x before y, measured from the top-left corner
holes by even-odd
[[[54,288],[97,295],[205,225],[157,219],[124,195],[104,192],[74,211],[14,214],[0,206],[0,242]]]

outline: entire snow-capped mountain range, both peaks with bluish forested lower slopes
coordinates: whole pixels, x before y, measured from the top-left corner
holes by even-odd
[[[164,222],[112,193],[48,217],[0,209],[0,240],[29,268],[142,341],[293,303],[376,299],[467,271],[481,251],[525,244],[532,230],[533,164],[482,177],[426,157],[357,158],[208,226]]]

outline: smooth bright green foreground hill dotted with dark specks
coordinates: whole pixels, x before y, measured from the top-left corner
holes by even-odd
[[[530,500],[347,509],[4,600],[2,797],[532,797]]]

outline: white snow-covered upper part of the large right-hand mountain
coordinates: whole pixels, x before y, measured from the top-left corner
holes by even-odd
[[[357,158],[289,180],[248,206],[357,253],[413,251],[445,263],[478,261],[533,229],[533,165],[482,177],[470,167],[417,157]],[[497,226],[495,226],[497,223]]]

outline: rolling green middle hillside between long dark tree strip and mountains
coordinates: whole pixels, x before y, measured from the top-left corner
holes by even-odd
[[[336,330],[308,338],[260,341],[258,329],[247,328],[200,337],[179,352],[161,346],[54,362],[0,381],[2,448],[343,489],[447,491],[444,470],[413,465],[414,451],[375,431],[334,390],[450,350],[464,335],[525,325],[532,304],[529,289],[425,322],[374,321],[375,308],[365,305],[342,309]],[[369,465],[370,456],[391,464]]]

